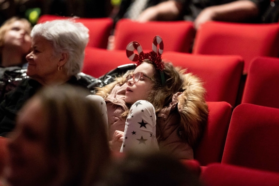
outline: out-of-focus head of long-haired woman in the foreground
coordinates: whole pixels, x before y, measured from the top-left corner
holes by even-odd
[[[79,87],[49,86],[26,102],[9,135],[3,184],[94,185],[110,149],[105,102],[86,95]]]

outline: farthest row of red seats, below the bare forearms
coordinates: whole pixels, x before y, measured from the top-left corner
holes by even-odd
[[[38,23],[67,18],[43,15]],[[113,28],[111,18],[78,18],[88,29],[88,47],[106,48]],[[279,57],[279,23],[245,24],[211,21],[197,32],[191,21],[152,21],[139,23],[121,19],[115,26],[115,50],[125,50],[131,41],[138,41],[150,51],[155,35],[164,40],[164,51],[205,55],[240,55],[244,59],[244,74],[250,62],[258,56]],[[195,41],[195,42],[194,42]],[[193,49],[193,50],[192,50]]]

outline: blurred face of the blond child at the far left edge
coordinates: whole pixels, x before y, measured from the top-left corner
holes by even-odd
[[[31,47],[31,37],[26,23],[15,21],[9,26],[4,35],[4,46],[18,48],[23,54],[26,54]]]

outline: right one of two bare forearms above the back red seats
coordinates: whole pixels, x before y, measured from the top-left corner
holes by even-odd
[[[259,14],[257,4],[250,0],[236,0],[230,3],[210,6],[201,11],[194,21],[195,28],[207,21],[245,22]]]

